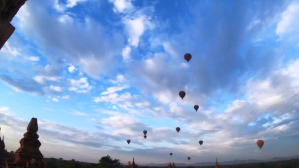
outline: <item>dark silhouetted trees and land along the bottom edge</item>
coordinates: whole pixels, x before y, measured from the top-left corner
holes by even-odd
[[[127,168],[126,165],[121,165],[119,159],[112,159],[109,155],[102,157],[98,164],[79,162],[74,159],[70,161],[55,158],[44,158],[44,162],[48,168]],[[263,162],[263,163],[250,163],[239,165],[221,165],[220,168],[299,168],[299,159],[275,161],[275,162]],[[150,167],[139,166],[139,168],[167,168],[165,167]],[[177,168],[214,168],[214,166],[202,166],[202,167],[178,167]]]

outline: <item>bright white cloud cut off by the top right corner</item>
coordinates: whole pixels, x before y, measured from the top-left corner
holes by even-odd
[[[299,16],[299,3],[298,1],[294,1],[282,13],[282,18],[276,27],[276,34],[282,37],[283,35],[288,33],[298,32],[299,31],[298,16]]]

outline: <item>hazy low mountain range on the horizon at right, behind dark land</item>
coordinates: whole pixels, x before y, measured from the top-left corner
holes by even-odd
[[[259,162],[275,162],[275,161],[282,161],[282,160],[291,160],[291,159],[299,159],[299,156],[293,157],[274,157],[265,160],[255,160],[255,159],[248,159],[248,160],[234,160],[234,161],[226,161],[226,162],[218,162],[219,165],[238,165],[238,164],[249,164],[249,163],[259,163]],[[149,167],[166,167],[169,163],[165,164],[140,164],[140,166],[149,166]],[[200,162],[194,164],[184,164],[184,163],[175,163],[177,167],[188,167],[188,166],[212,166],[215,165],[215,162]]]

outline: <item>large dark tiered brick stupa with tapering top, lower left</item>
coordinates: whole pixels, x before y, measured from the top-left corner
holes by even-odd
[[[31,121],[27,127],[27,133],[24,134],[24,138],[20,140],[20,148],[15,153],[15,165],[27,165],[31,163],[32,159],[38,165],[43,165],[42,159],[43,155],[41,154],[39,147],[41,145],[38,140],[38,126],[37,119],[31,118]]]

